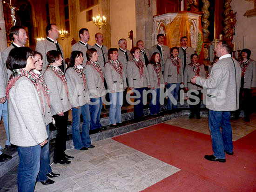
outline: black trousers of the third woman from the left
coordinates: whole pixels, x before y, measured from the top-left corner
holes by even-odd
[[[66,150],[67,141],[67,119],[68,111],[64,112],[64,116],[53,115],[55,126],[57,128],[57,135],[54,146],[54,160],[63,159]]]

